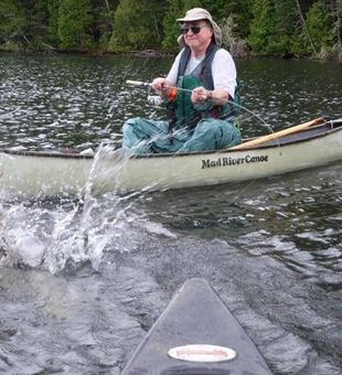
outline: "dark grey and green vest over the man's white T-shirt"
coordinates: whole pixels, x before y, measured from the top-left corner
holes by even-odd
[[[210,44],[203,61],[191,74],[184,75],[191,57],[190,47],[184,47],[179,63],[177,86],[185,88],[186,90],[179,90],[175,100],[168,106],[171,114],[170,132],[172,132],[174,128],[184,126],[194,128],[196,124],[205,117],[226,119],[236,114],[236,106],[231,103],[224,106],[214,106],[211,103],[194,106],[191,101],[190,90],[193,88],[203,86],[210,90],[214,89],[212,62],[218,50],[220,47],[215,43]],[[235,89],[234,101],[237,101],[238,98],[238,92]]]

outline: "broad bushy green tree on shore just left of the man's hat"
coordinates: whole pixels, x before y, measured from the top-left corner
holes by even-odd
[[[158,0],[120,0],[114,17],[109,50],[158,49],[163,39],[164,3]]]

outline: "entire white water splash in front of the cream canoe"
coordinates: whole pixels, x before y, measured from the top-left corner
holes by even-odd
[[[44,206],[49,202],[11,205],[6,212],[9,227],[0,236],[0,261],[7,266],[40,267],[52,274],[72,272],[85,264],[98,269],[109,245],[111,249],[113,244],[118,250],[127,248],[119,239],[125,234],[125,223],[131,221],[127,212],[133,200],[132,195],[118,195],[116,186],[128,158],[121,150],[103,144],[75,201],[65,199],[49,208]],[[111,176],[115,180],[108,182]]]

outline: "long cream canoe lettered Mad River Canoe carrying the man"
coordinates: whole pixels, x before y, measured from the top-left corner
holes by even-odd
[[[125,194],[261,179],[341,161],[342,119],[313,125],[317,122],[320,121],[264,137],[261,144],[243,143],[237,148],[183,154],[125,158],[113,151],[94,159],[79,153],[3,149],[0,190],[2,196],[77,194],[93,170],[95,192]]]

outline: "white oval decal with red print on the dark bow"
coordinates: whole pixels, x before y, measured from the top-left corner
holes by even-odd
[[[233,349],[209,344],[177,346],[170,349],[168,354],[172,358],[189,362],[223,362],[234,360],[237,355]]]

